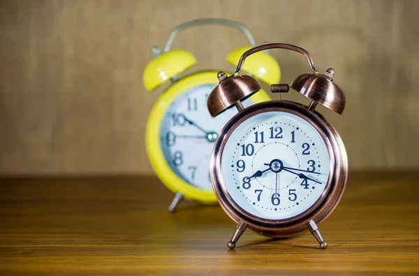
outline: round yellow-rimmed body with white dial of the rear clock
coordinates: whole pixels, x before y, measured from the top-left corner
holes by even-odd
[[[216,202],[210,181],[212,147],[237,113],[235,108],[216,118],[208,113],[207,97],[218,83],[215,71],[175,82],[156,101],[147,122],[147,154],[156,175],[171,191],[202,203]],[[258,92],[243,104],[268,100],[265,92]]]

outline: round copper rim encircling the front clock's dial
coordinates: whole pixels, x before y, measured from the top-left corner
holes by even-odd
[[[316,203],[310,206],[310,208],[288,219],[263,219],[243,210],[240,205],[235,203],[233,198],[231,198],[230,194],[226,190],[226,184],[223,182],[223,177],[221,175],[221,155],[227,140],[233,131],[246,119],[249,119],[254,115],[270,111],[288,112],[293,115],[297,115],[298,117],[301,117],[302,119],[305,119],[307,122],[309,122],[309,124],[314,126],[316,131],[318,131],[318,133],[323,138],[330,158],[328,183],[326,184],[326,187],[323,190],[321,196],[318,198]],[[337,157],[341,157],[342,160],[339,160]],[[220,168],[218,171],[217,167]],[[318,222],[323,221],[326,217],[328,217],[328,215],[330,215],[332,210],[335,209],[337,203],[339,203],[340,198],[344,193],[347,179],[347,170],[346,151],[344,149],[343,143],[341,143],[341,139],[337,131],[335,131],[335,129],[327,122],[327,120],[325,120],[318,112],[311,112],[307,109],[307,106],[290,101],[270,101],[265,103],[258,103],[256,105],[250,106],[249,108],[245,108],[232,119],[230,119],[226,126],[223,127],[219,133],[219,138],[216,140],[212,153],[210,168],[212,186],[214,188],[216,197],[221,203],[221,207],[233,220],[244,221],[249,225],[249,228],[252,231],[258,233],[261,233],[261,231],[275,232],[278,229],[284,231],[286,228],[293,228],[295,224],[306,224],[309,219],[311,219],[311,217],[318,217],[316,214],[322,212],[324,209],[327,209],[328,205],[332,204],[325,215],[316,219]],[[340,189],[337,189],[339,188],[338,186]],[[284,228],[284,225],[288,226]],[[297,233],[300,232],[301,231],[297,231]]]

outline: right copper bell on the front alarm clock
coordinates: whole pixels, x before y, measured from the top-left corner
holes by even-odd
[[[333,68],[328,68],[324,75],[320,73],[302,74],[293,80],[290,87],[325,108],[342,114],[346,103],[345,94],[333,82],[334,75]]]

